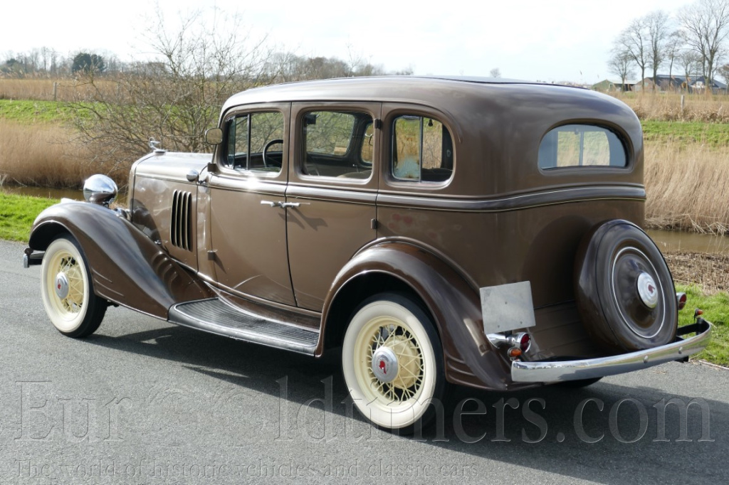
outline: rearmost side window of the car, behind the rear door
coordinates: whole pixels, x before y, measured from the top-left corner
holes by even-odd
[[[404,115],[392,123],[392,176],[444,182],[453,174],[451,133],[437,119]]]

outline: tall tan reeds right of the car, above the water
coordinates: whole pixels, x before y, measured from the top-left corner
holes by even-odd
[[[647,143],[644,181],[647,226],[729,232],[729,148]]]

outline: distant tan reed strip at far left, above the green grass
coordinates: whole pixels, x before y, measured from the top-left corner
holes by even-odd
[[[113,79],[97,80],[95,84],[101,90],[117,89]],[[95,87],[74,79],[0,79],[0,99],[86,101],[93,100],[94,93]]]

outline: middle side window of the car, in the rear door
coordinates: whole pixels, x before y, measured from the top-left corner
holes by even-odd
[[[309,176],[370,178],[373,119],[358,111],[309,111],[302,119],[303,163]]]

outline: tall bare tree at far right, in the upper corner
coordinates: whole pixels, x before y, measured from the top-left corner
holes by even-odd
[[[701,58],[701,74],[710,87],[729,36],[729,0],[697,0],[680,9],[678,18],[686,43]]]

